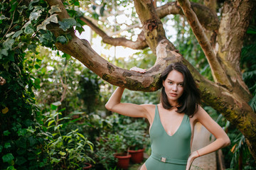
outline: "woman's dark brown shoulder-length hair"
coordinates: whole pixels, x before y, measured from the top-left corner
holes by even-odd
[[[183,94],[180,98],[178,98],[178,113],[185,113],[188,116],[193,117],[193,114],[198,111],[198,105],[201,101],[200,91],[196,87],[196,82],[194,81],[191,72],[188,68],[182,64],[181,62],[175,62],[170,64],[164,72],[162,72],[160,77],[160,82],[162,84],[163,81],[166,80],[168,74],[172,70],[176,70],[183,74]],[[170,109],[173,106],[168,101],[168,97],[166,95],[164,86],[161,89],[161,103],[166,109]]]

